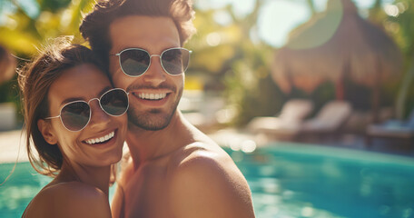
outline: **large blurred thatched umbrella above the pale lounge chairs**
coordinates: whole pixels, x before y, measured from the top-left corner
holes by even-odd
[[[294,85],[311,92],[330,80],[343,98],[343,81],[370,85],[377,120],[382,81],[397,79],[402,54],[379,27],[358,15],[350,0],[329,0],[324,13],[291,32],[287,45],[275,54],[273,79],[285,93]]]

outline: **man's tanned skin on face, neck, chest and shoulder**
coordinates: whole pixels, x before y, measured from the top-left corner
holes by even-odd
[[[111,54],[133,47],[161,54],[182,46],[169,17],[125,16],[109,31]],[[151,61],[145,74],[130,77],[118,56],[110,56],[113,83],[130,93],[126,142],[132,157],[118,181],[113,217],[254,217],[248,183],[231,157],[176,110],[184,74],[166,74],[157,56]]]

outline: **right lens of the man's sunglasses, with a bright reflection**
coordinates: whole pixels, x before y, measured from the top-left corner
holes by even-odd
[[[161,60],[168,74],[182,74],[188,67],[190,52],[182,48],[173,48],[165,51]]]

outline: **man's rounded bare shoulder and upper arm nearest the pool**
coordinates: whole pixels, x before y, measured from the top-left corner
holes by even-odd
[[[249,186],[228,155],[188,156],[173,175],[170,196],[174,217],[254,217]]]

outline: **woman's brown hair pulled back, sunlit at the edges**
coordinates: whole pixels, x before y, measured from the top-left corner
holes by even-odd
[[[64,161],[59,147],[48,144],[37,127],[37,121],[49,116],[49,87],[65,71],[80,64],[94,64],[104,70],[102,62],[83,45],[71,45],[67,38],[58,38],[25,65],[18,74],[25,114],[25,144],[29,161],[38,173],[55,176]],[[34,156],[31,143],[37,151]]]

